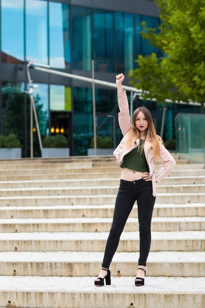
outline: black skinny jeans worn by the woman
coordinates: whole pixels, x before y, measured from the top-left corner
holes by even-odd
[[[103,268],[108,269],[110,267],[119,244],[120,235],[136,200],[140,231],[140,258],[138,264],[146,266],[146,259],[151,244],[150,225],[155,197],[152,195],[151,181],[140,179],[133,182],[120,180],[113,223],[105,247]]]

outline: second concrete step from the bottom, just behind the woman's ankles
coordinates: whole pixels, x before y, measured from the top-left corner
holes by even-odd
[[[103,255],[91,251],[0,252],[0,273],[1,276],[95,276]],[[137,274],[138,257],[136,252],[116,252],[111,264],[112,276]],[[205,277],[204,268],[205,251],[162,251],[149,253],[146,272],[149,277]]]

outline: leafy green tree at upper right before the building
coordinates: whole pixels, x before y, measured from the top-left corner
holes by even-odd
[[[205,113],[205,0],[155,3],[160,10],[159,29],[143,23],[141,34],[164,57],[139,55],[138,68],[129,72],[130,83],[143,90],[144,98],[199,102]]]

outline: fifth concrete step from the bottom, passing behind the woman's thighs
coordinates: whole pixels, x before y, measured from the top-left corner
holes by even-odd
[[[0,207],[1,218],[112,218],[114,205],[64,205],[64,206],[13,206]],[[157,204],[154,205],[153,217],[191,217],[205,216],[204,203],[192,204]],[[138,217],[137,205],[134,205],[129,217]]]

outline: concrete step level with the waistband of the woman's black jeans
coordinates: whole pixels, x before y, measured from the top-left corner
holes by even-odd
[[[198,177],[167,177],[160,185],[204,185],[205,176]],[[118,186],[119,178],[101,179],[55,179],[54,180],[29,180],[29,181],[1,181],[0,189],[42,188],[42,187],[94,187],[94,186]]]

